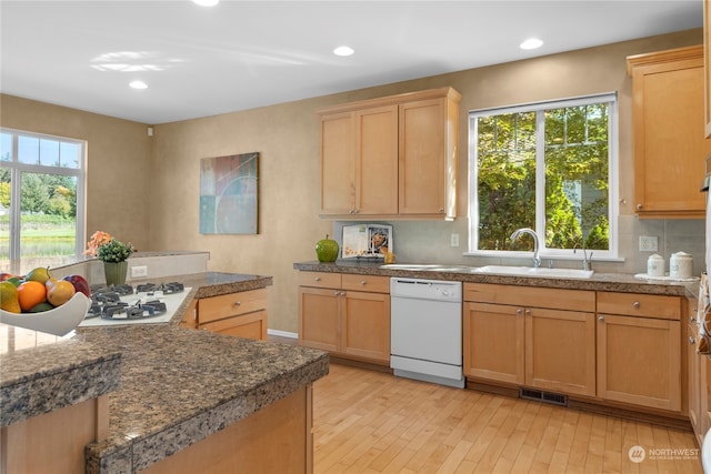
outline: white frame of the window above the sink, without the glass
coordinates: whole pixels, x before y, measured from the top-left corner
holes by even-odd
[[[550,249],[545,246],[545,167],[544,167],[544,122],[542,113],[548,109],[560,109],[564,107],[590,105],[595,103],[608,103],[608,216],[609,216],[609,249],[607,251],[594,250],[595,260],[620,260],[619,258],[619,230],[618,218],[619,205],[619,99],[617,92],[604,92],[590,95],[580,95],[565,99],[530,102],[518,105],[507,105],[489,109],[474,109],[469,111],[469,242],[465,255],[473,256],[500,256],[500,258],[528,258],[531,252],[511,250],[480,250],[479,245],[479,154],[478,123],[479,117],[489,117],[518,112],[537,112],[535,130],[535,226],[534,231],[540,241],[541,258],[549,259],[571,259],[574,255],[572,249]]]

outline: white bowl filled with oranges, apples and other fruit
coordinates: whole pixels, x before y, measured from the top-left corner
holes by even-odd
[[[48,269],[0,281],[0,323],[66,335],[91,307],[91,290],[81,275],[54,279]]]

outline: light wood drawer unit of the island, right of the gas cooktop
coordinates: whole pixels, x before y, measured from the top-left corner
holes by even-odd
[[[194,300],[180,325],[266,341],[267,289]]]

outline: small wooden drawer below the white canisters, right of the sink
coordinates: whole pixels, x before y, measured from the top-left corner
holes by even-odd
[[[598,313],[627,316],[681,319],[681,297],[640,293],[598,293]]]

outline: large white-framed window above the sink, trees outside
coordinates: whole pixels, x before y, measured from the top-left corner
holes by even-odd
[[[617,256],[617,97],[470,112],[470,252]]]

